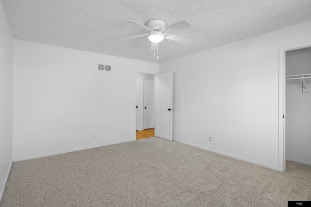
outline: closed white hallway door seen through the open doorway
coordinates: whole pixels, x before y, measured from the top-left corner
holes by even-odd
[[[144,79],[144,129],[155,127],[155,80]]]

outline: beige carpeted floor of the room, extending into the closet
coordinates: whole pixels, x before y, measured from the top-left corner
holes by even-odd
[[[14,162],[0,207],[286,207],[311,166],[278,172],[160,138]]]

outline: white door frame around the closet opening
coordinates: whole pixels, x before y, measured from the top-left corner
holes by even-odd
[[[286,52],[310,47],[311,41],[307,41],[280,47],[278,50],[278,171],[281,172],[285,171],[286,169]]]

